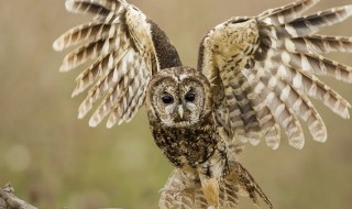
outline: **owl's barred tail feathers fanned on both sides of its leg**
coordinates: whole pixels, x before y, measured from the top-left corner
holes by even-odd
[[[229,166],[229,175],[219,183],[220,208],[237,208],[239,205],[239,196],[250,197],[255,206],[260,205],[260,197],[270,208],[273,208],[272,202],[264,191],[240,163],[230,162]],[[164,188],[161,190],[158,206],[161,209],[208,208],[199,178],[196,175],[185,173],[178,168],[174,169]]]

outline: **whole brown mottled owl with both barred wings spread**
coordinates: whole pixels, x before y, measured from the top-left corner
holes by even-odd
[[[154,141],[175,166],[161,208],[234,208],[238,195],[270,200],[238,161],[239,144],[265,141],[275,150],[280,130],[302,148],[301,121],[312,139],[327,140],[317,99],[348,119],[351,106],[318,76],[352,82],[352,68],[322,56],[352,52],[352,37],[317,32],[352,15],[352,4],[302,15],[319,0],[298,0],[256,16],[220,23],[201,40],[197,69],[185,67],[158,25],[125,0],[66,0],[74,13],[92,14],[54,42],[77,46],[62,72],[88,62],[73,97],[88,90],[84,118],[103,97],[89,124],[129,122],[146,105]],[[108,116],[109,114],[109,116]]]

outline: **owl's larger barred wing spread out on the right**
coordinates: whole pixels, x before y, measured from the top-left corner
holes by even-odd
[[[317,35],[342,22],[352,6],[312,15],[301,13],[319,0],[300,0],[254,18],[233,18],[202,40],[198,68],[211,82],[218,122],[234,139],[277,148],[280,128],[294,147],[304,146],[298,118],[316,141],[324,142],[324,123],[309,97],[348,119],[351,107],[317,76],[352,82],[350,66],[320,54],[352,52],[352,37]]]

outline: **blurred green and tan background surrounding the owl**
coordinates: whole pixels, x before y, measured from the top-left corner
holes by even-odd
[[[290,0],[131,0],[166,31],[185,65],[196,66],[202,35],[232,15],[255,15]],[[311,11],[351,3],[322,0]],[[64,1],[12,0],[0,7],[0,187],[40,208],[157,208],[158,190],[172,170],[156,148],[145,111],[111,130],[77,119],[84,96],[70,99],[79,70],[59,74],[64,53],[53,41],[90,20],[67,13]],[[323,30],[352,35],[352,20]],[[352,65],[351,54],[330,57]],[[352,86],[324,79],[352,101]],[[329,140],[304,150],[283,139],[279,150],[246,146],[242,163],[276,208],[351,208],[352,120],[320,103]],[[307,130],[307,129],[306,129]],[[244,201],[245,202],[245,201]],[[251,208],[242,205],[242,208]]]

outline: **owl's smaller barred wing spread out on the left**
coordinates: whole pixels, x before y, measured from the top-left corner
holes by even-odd
[[[108,114],[109,128],[129,122],[144,103],[152,75],[182,65],[175,47],[152,20],[124,0],[66,0],[65,6],[69,12],[94,15],[53,45],[56,51],[77,46],[64,58],[62,72],[92,61],[76,79],[73,97],[90,88],[78,117],[105,96],[89,124],[98,125]]]

